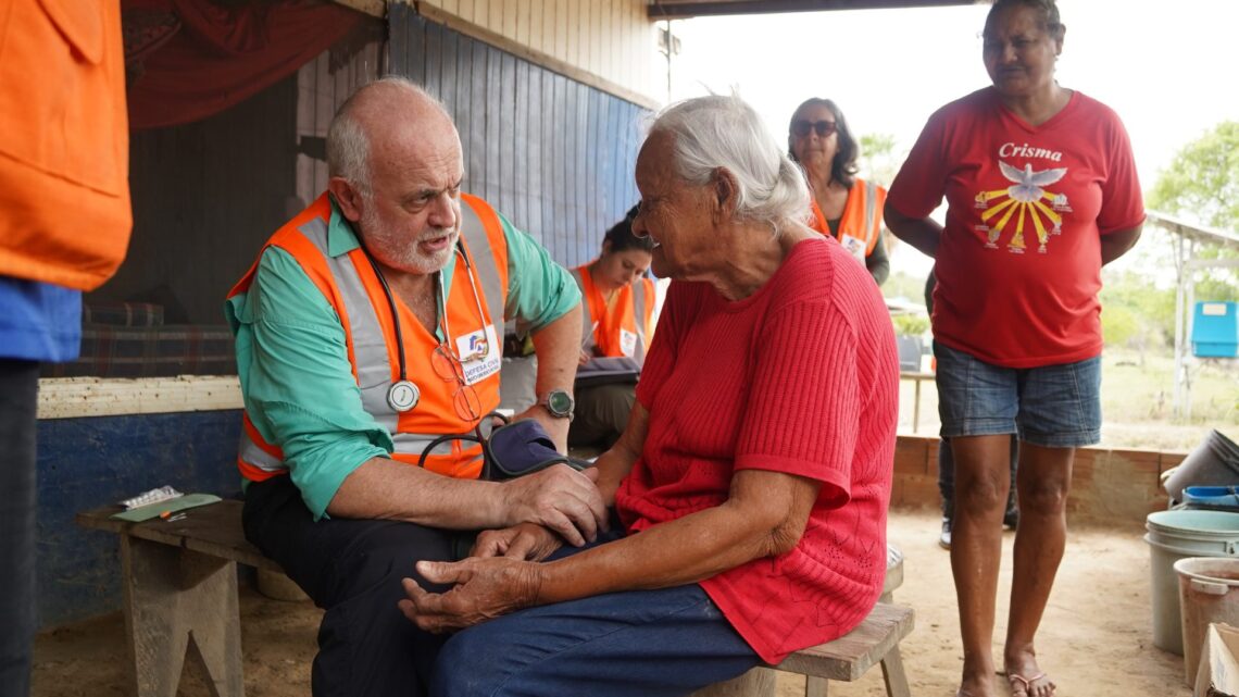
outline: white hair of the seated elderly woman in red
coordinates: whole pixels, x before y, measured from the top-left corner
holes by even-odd
[[[649,133],[672,136],[675,172],[689,184],[705,185],[719,169],[731,172],[737,221],[766,224],[778,236],[808,220],[804,172],[740,97],[711,94],[672,104]]]

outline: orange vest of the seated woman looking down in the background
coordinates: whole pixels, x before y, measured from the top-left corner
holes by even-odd
[[[572,269],[572,278],[582,298],[581,350],[597,346],[602,356],[627,356],[644,363],[654,336],[654,282],[641,278],[621,288],[615,311],[607,313],[606,298],[590,278],[590,264]]]

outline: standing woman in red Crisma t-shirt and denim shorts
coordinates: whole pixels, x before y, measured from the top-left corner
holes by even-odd
[[[937,259],[960,695],[996,693],[991,635],[1012,435],[1020,527],[1002,662],[1016,697],[1054,693],[1033,636],[1066,546],[1074,449],[1100,437],[1100,272],[1135,244],[1145,218],[1119,118],[1054,81],[1064,33],[1053,0],[997,0],[983,47],[992,86],[929,118],[886,203],[891,231]],[[945,227],[929,218],[943,196]]]

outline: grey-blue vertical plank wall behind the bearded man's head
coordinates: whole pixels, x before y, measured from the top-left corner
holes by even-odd
[[[465,190],[489,201],[567,267],[592,259],[637,201],[642,120],[631,102],[426,21],[388,15],[389,71],[424,84],[456,119]]]

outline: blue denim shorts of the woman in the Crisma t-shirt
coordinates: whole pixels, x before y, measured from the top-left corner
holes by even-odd
[[[1005,368],[934,342],[942,437],[1002,435],[1044,448],[1101,440],[1101,357]]]

